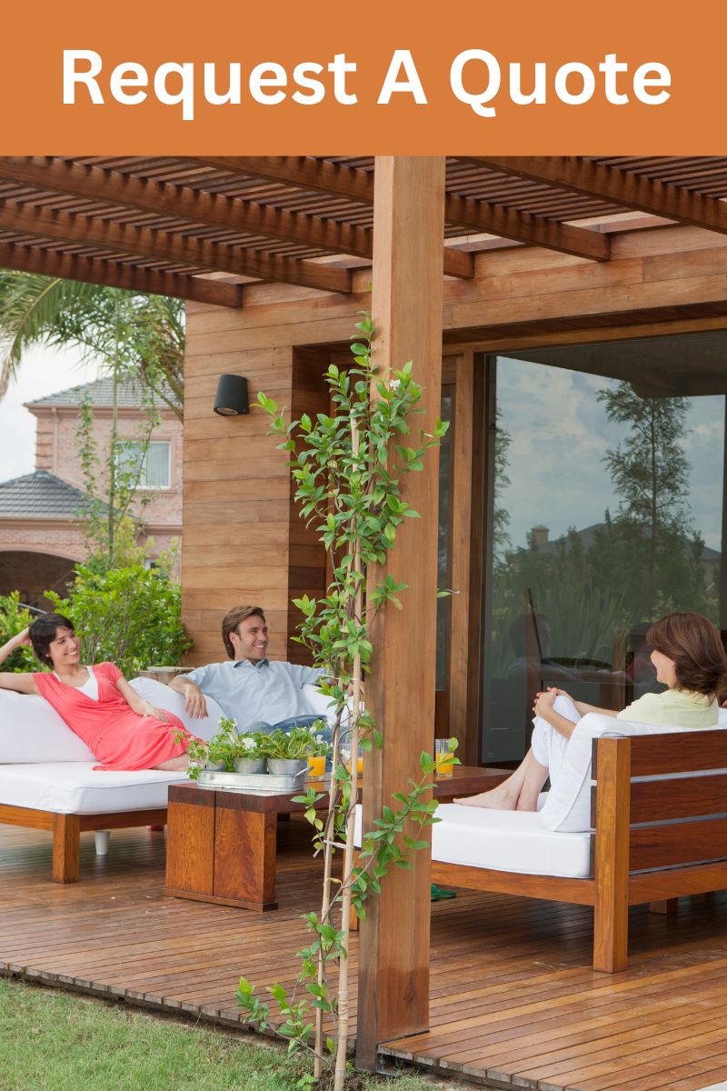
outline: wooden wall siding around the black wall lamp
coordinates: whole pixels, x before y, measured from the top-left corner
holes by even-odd
[[[256,409],[246,417],[213,411],[218,376],[245,375],[257,391],[290,405],[292,352],[284,344],[249,349],[244,332],[208,328],[217,309],[187,319],[184,424],[182,616],[194,638],[191,663],[226,658],[220,621],[232,606],[263,606],[270,655],[286,658],[290,495],[286,456]],[[197,325],[207,327],[197,333]],[[214,327],[214,322],[213,322]]]

